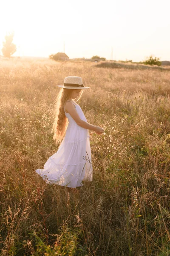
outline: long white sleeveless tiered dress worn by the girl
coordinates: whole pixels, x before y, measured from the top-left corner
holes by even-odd
[[[74,105],[80,119],[87,122],[80,106]],[[47,183],[75,188],[83,186],[82,180],[91,181],[93,178],[91,146],[88,129],[77,125],[69,113],[65,112],[65,116],[68,127],[58,151],[48,158],[44,169],[37,169],[36,172]]]

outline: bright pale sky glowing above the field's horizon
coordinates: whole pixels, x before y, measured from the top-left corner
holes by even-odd
[[[170,61],[170,0],[0,0],[0,9],[0,49],[14,31],[13,56]]]

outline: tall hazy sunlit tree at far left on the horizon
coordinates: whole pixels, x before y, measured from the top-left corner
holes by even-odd
[[[4,57],[10,58],[11,55],[16,52],[17,47],[12,43],[14,37],[14,32],[8,32],[5,36],[5,41],[3,42],[2,53]]]

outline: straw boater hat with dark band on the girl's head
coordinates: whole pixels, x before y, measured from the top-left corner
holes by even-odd
[[[79,76],[67,76],[64,79],[64,84],[57,85],[58,87],[61,88],[66,88],[66,89],[86,89],[90,87],[85,87],[82,84],[82,78]]]

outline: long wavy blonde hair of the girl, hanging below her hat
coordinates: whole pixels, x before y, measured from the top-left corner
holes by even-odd
[[[56,144],[61,143],[62,138],[65,135],[65,131],[68,126],[68,119],[65,116],[64,104],[71,96],[71,93],[76,89],[66,89],[61,88],[57,97],[54,101],[54,122],[52,125],[51,133],[54,134],[53,139],[56,141]],[[76,100],[76,102],[81,98],[83,90]]]

